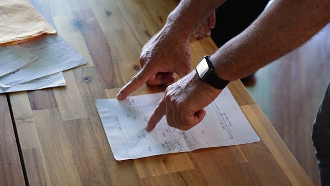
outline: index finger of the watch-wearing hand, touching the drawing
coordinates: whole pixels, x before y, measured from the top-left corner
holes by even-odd
[[[149,121],[148,121],[148,125],[146,127],[147,131],[152,131],[157,123],[160,121],[160,119],[162,118],[162,116],[164,116],[166,113],[166,103],[164,100],[164,97],[162,97],[162,99],[160,100],[158,106],[156,107],[156,109],[153,111]]]

